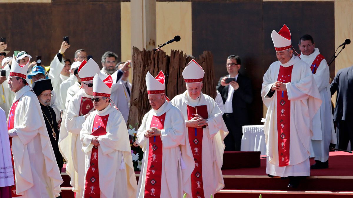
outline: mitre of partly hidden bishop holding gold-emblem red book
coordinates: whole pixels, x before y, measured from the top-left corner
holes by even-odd
[[[93,80],[93,77],[96,74],[99,74],[100,69],[98,64],[92,58],[90,58],[88,61],[82,61],[77,71],[81,82],[85,82]]]

